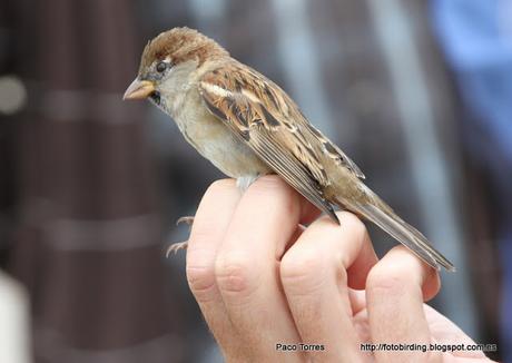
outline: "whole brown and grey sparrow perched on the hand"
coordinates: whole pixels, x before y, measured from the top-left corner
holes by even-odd
[[[334,223],[339,220],[333,205],[373,222],[432,267],[455,271],[363,183],[357,165],[283,89],[200,32],[175,28],[148,42],[124,96],[144,98],[168,114],[186,140],[242,189],[276,173]]]

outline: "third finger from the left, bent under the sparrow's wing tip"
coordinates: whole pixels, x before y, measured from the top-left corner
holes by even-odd
[[[303,233],[283,257],[280,277],[302,341],[323,344],[322,360],[354,362],[360,342],[352,324],[346,269],[371,248],[364,246],[370,244],[364,224],[347,212],[337,215],[341,226],[322,217]]]

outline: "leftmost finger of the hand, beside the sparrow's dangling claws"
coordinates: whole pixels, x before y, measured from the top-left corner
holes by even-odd
[[[233,342],[233,328],[215,279],[215,257],[240,199],[235,180],[215,182],[197,209],[187,248],[187,281],[219,344]],[[221,207],[219,207],[221,206]]]

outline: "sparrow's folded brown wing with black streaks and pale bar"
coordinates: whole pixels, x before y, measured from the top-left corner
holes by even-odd
[[[255,70],[233,62],[203,76],[206,107],[288,184],[337,220],[323,195],[329,179],[321,153],[364,177],[357,166],[316,130],[294,101]]]

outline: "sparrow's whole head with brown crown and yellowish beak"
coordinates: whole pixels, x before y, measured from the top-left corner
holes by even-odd
[[[216,57],[228,56],[216,41],[189,28],[174,28],[144,49],[137,78],[122,99],[149,98],[158,106],[183,90],[190,75]]]

